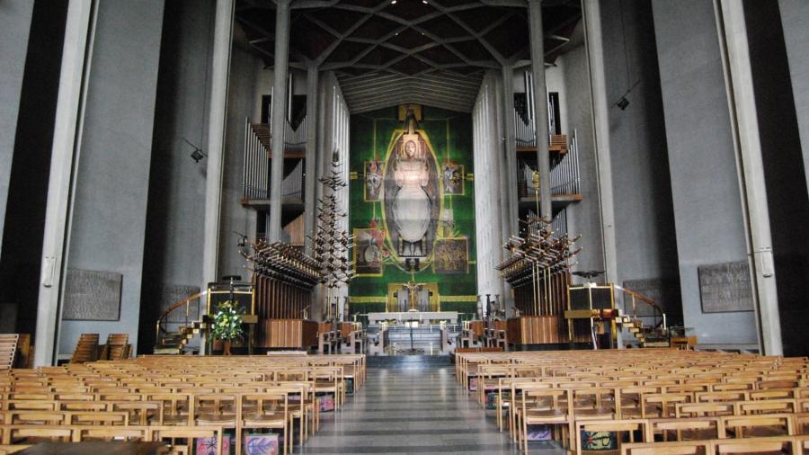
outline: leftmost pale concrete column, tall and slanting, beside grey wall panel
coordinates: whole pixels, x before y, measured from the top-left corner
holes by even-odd
[[[73,199],[77,150],[82,137],[82,112],[86,92],[84,82],[89,72],[93,43],[93,0],[70,0],[67,5],[65,43],[59,76],[56,120],[48,183],[48,205],[45,210],[45,235],[42,239],[42,273],[37,308],[37,332],[34,340],[34,366],[52,365],[58,348],[59,299],[65,261],[68,207]]]

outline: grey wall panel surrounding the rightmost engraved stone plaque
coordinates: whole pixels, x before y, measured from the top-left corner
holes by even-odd
[[[652,5],[685,325],[700,343],[757,343],[752,312],[706,314],[699,295],[699,265],[746,260],[713,5]]]

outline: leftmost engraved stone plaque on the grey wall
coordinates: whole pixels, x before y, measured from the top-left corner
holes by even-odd
[[[70,321],[120,320],[123,275],[114,272],[67,269],[62,319]]]

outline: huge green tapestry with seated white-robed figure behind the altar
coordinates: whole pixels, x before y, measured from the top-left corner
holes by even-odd
[[[476,312],[468,113],[417,105],[351,115],[351,314]]]

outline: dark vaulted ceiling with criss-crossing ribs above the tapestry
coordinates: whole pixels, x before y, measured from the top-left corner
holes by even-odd
[[[273,64],[275,4],[239,0],[236,21]],[[337,73],[351,112],[401,103],[469,112],[485,70],[529,58],[525,0],[293,0],[292,67]],[[546,61],[581,19],[574,0],[543,2]]]

